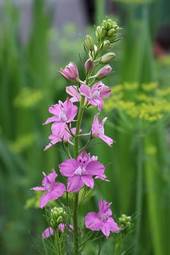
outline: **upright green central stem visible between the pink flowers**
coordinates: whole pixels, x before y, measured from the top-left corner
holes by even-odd
[[[84,113],[84,98],[81,98],[77,125],[76,125],[76,135],[75,135],[75,145],[74,145],[74,154],[75,157],[79,154],[79,133],[81,122]],[[74,194],[74,205],[73,205],[73,241],[74,241],[74,255],[79,254],[79,233],[78,233],[78,200],[79,200],[79,193]]]

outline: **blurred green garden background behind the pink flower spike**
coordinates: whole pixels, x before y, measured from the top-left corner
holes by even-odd
[[[49,129],[42,123],[48,106],[65,98],[59,67],[82,64],[84,35],[106,16],[122,27],[105,81],[113,86],[105,114],[116,144],[91,146],[111,182],[97,184],[88,206],[103,197],[115,217],[132,216],[123,254],[170,254],[169,0],[0,1],[0,254],[44,254],[46,223],[31,208],[30,188],[64,155],[60,146],[43,152]],[[113,254],[112,244],[103,252]]]

